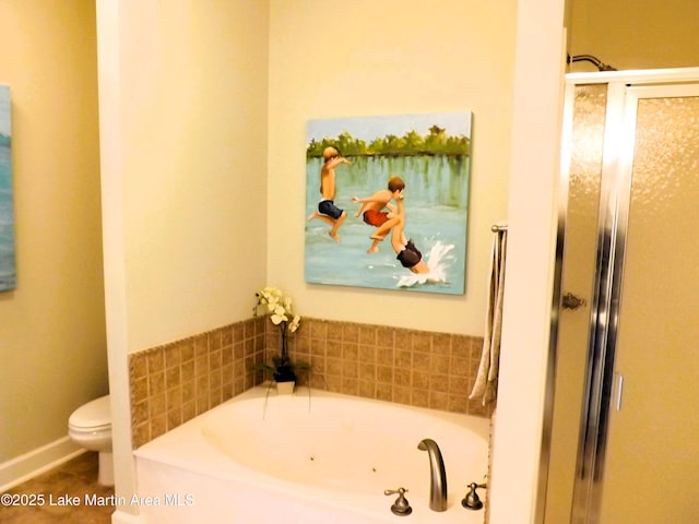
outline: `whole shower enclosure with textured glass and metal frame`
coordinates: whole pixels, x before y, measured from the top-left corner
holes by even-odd
[[[699,69],[569,74],[564,121],[541,514],[697,522]]]

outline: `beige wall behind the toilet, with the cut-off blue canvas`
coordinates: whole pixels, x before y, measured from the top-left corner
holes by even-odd
[[[107,393],[95,7],[1,0],[17,288],[0,294],[0,463]],[[2,484],[0,479],[0,484]]]

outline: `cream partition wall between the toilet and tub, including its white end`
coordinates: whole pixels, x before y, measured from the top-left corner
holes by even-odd
[[[115,475],[131,497],[128,354],[249,318],[265,281],[268,10],[99,0],[97,19]]]

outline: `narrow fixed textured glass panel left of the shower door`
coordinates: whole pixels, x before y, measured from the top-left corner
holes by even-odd
[[[570,521],[595,274],[606,104],[606,84],[576,87],[561,284],[564,293],[584,298],[587,306],[561,310],[559,315],[547,523]]]

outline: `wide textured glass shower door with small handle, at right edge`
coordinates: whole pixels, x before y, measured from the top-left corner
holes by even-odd
[[[626,241],[608,315],[616,348],[596,522],[694,523],[699,85],[628,87],[624,120],[616,219]]]

